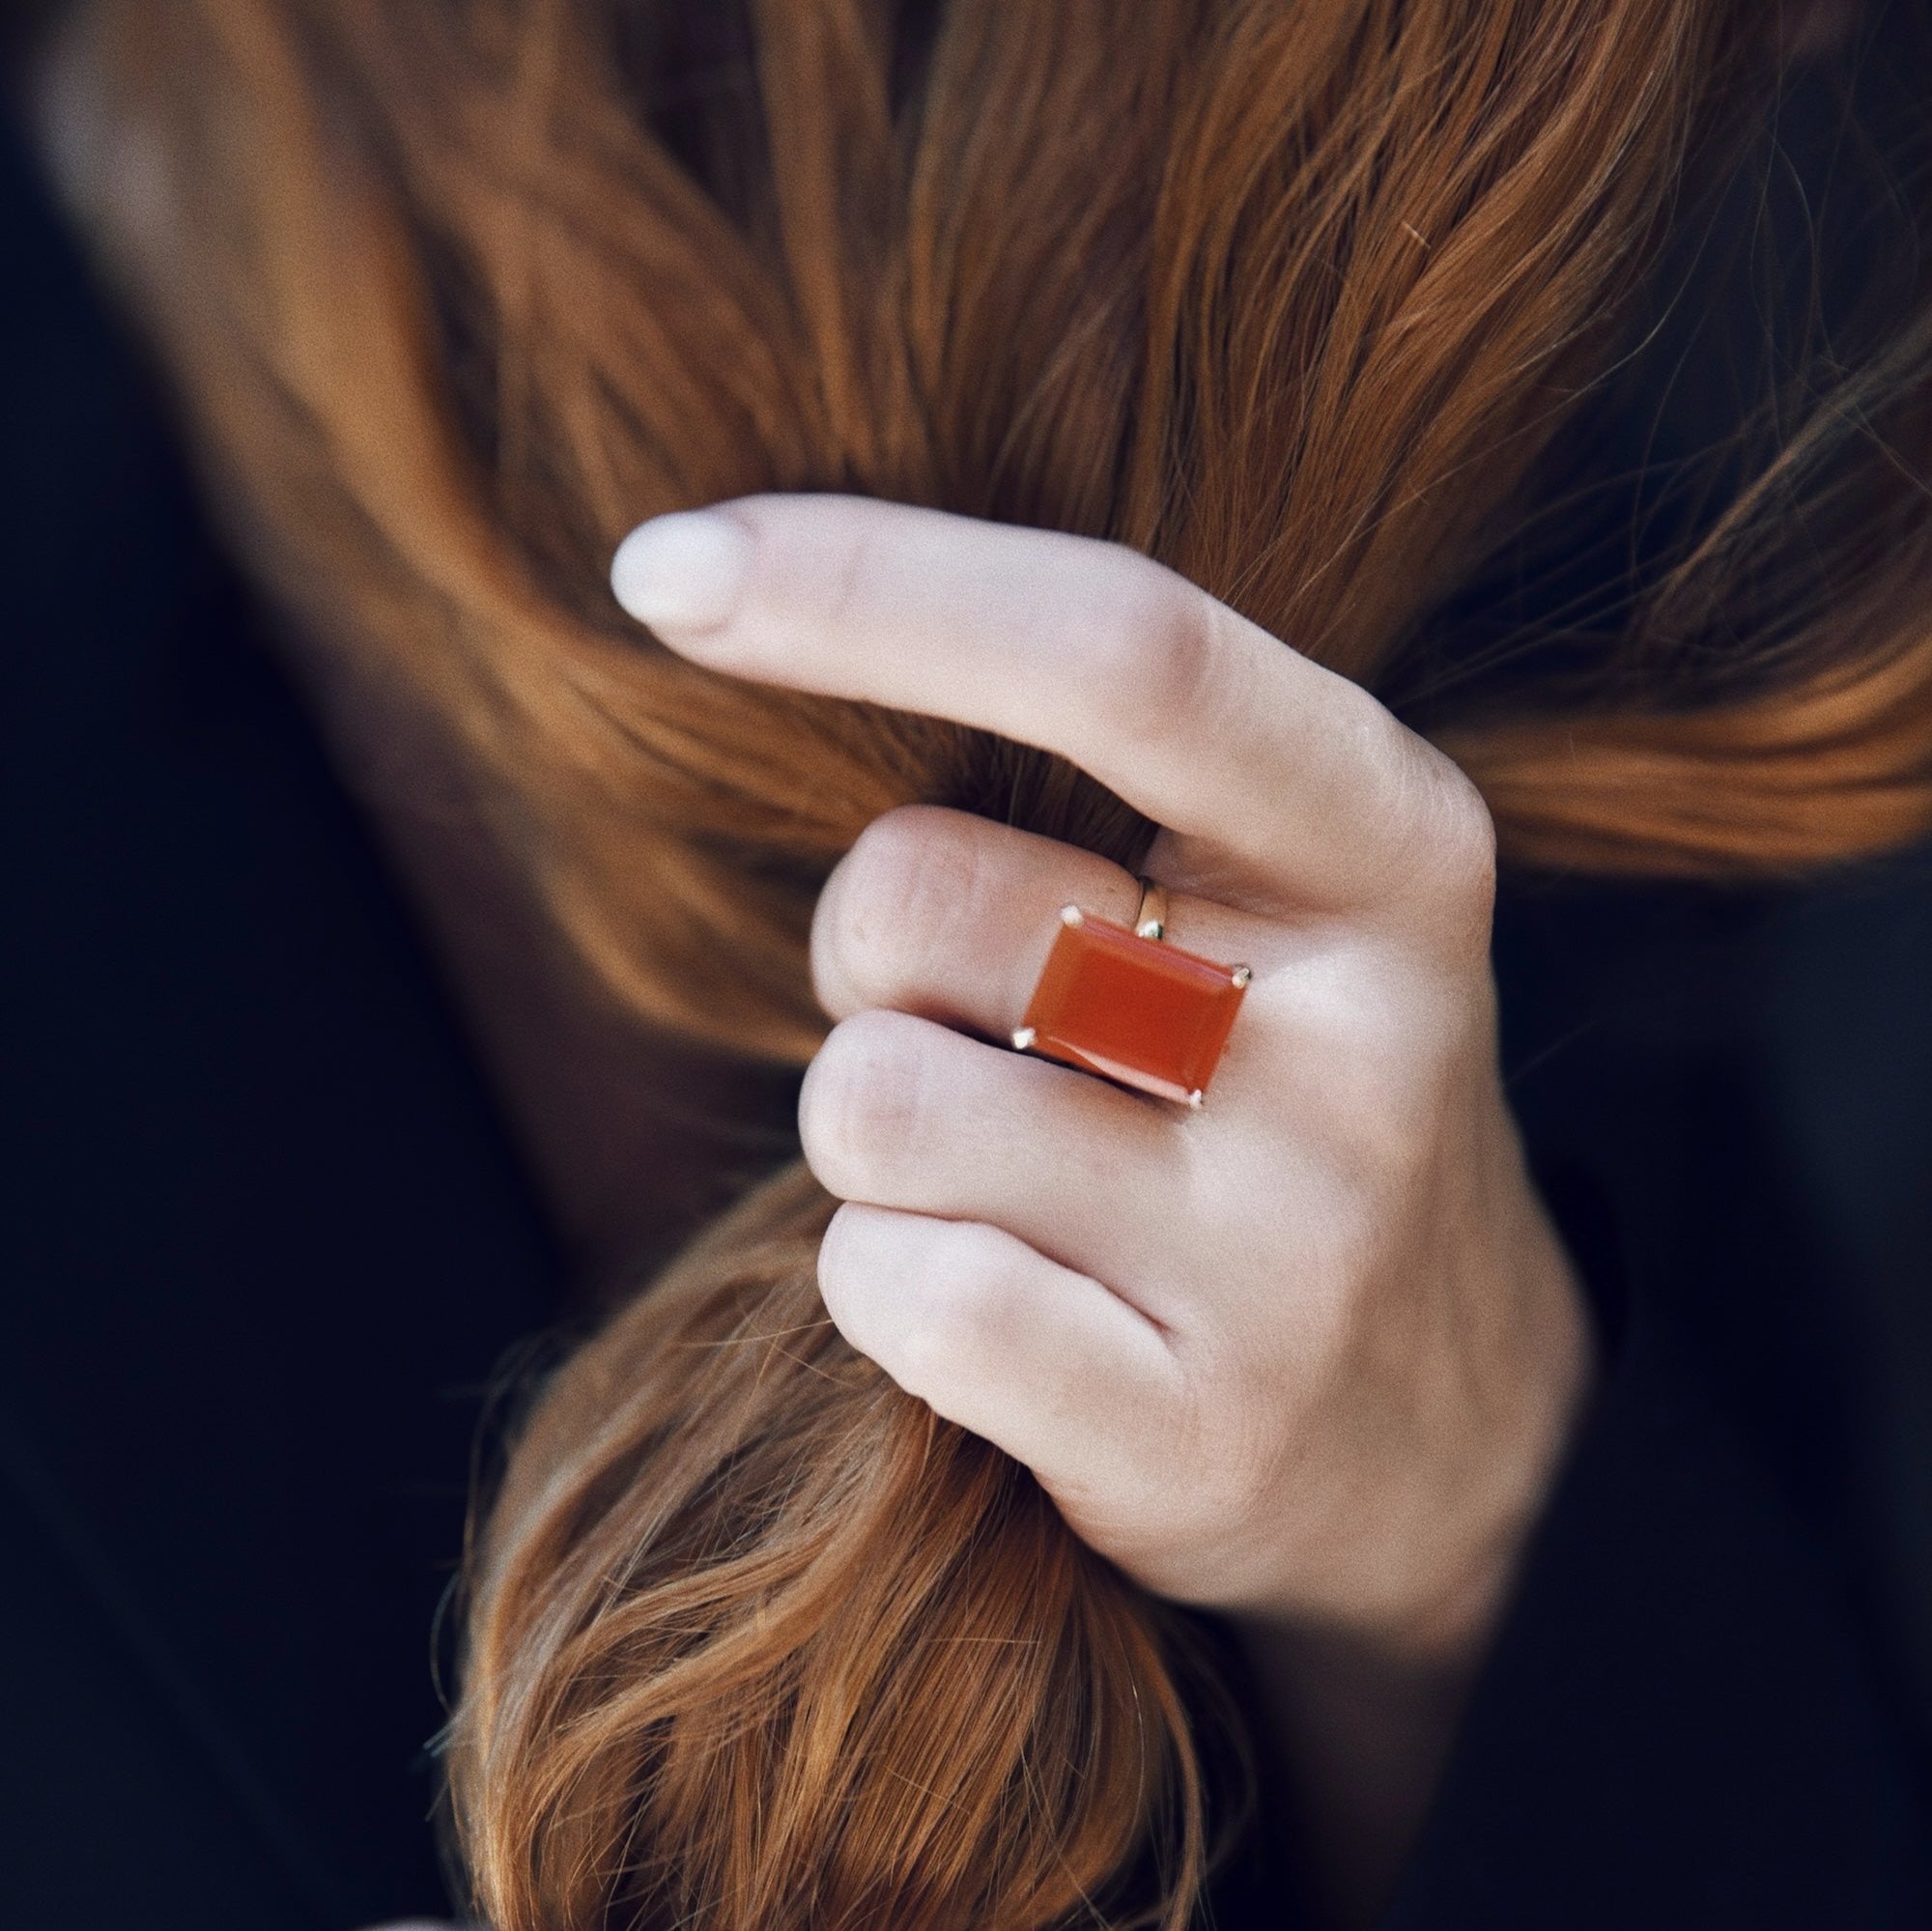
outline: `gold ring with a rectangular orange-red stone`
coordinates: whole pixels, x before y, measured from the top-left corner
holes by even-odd
[[[1061,908],[1020,1052],[1200,1106],[1254,973],[1167,944],[1167,888],[1140,881],[1132,925]]]

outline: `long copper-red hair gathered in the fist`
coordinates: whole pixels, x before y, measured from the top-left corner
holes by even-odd
[[[742,492],[1157,556],[1441,743],[1505,863],[1772,877],[1932,825],[1922,116],[1868,70],[1801,207],[1781,25],[100,0],[85,46],[102,222],[255,570],[456,734],[611,1000],[796,1066],[877,813],[1124,863],[1150,826],[639,633],[618,537]],[[448,1746],[475,1908],[1173,1931],[1236,1802],[1215,1666],[829,1327],[829,1207],[775,1174],[533,1402]]]

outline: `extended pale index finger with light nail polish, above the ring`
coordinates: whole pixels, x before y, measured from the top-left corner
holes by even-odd
[[[1406,875],[1445,763],[1347,678],[1086,537],[746,496],[643,523],[611,583],[696,662],[1057,751],[1298,900],[1356,904]]]

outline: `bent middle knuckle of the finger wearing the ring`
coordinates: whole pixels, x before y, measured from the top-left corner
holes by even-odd
[[[838,861],[811,921],[811,979],[829,1012],[893,1004],[922,983],[970,904],[978,854],[954,813],[902,805]]]

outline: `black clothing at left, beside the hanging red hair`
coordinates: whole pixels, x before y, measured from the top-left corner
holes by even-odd
[[[0,1927],[440,1908],[529,1188],[147,384],[0,160]]]

